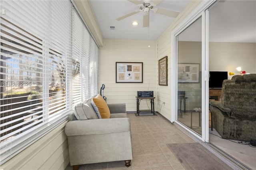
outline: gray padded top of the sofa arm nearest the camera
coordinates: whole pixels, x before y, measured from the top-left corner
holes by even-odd
[[[115,119],[89,119],[69,121],[65,127],[67,136],[81,136],[89,134],[109,134],[118,132],[129,132],[129,118]]]

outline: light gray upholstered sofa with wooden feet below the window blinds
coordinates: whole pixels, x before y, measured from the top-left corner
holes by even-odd
[[[98,119],[91,100],[68,115],[65,132],[70,165],[78,169],[80,164],[124,160],[125,166],[130,166],[132,140],[125,103],[108,104],[110,119]]]

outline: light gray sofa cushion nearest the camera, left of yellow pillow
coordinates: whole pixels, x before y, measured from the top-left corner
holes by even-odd
[[[91,107],[91,100],[76,105],[74,115],[77,120],[98,119],[94,109]]]

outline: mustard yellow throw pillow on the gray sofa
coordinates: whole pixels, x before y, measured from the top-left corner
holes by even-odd
[[[106,101],[103,99],[101,95],[97,95],[96,97],[92,98],[92,104],[95,104],[100,112],[100,116],[102,119],[109,119],[110,118],[110,110]],[[92,105],[94,106],[94,105]],[[95,109],[94,109],[95,110]]]

